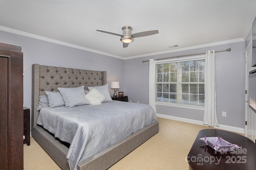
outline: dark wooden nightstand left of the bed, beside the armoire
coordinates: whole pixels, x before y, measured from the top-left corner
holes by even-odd
[[[23,128],[23,134],[25,136],[25,139],[23,140],[24,142],[27,142],[27,145],[30,145],[30,109],[27,107],[23,108],[23,114],[24,114],[24,118],[23,118],[23,124],[24,124],[24,128]]]

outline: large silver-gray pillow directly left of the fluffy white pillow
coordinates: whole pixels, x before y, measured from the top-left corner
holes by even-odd
[[[85,98],[84,86],[71,88],[58,87],[58,90],[60,90],[67,108],[90,104]]]

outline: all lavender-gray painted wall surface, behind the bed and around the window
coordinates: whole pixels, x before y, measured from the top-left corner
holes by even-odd
[[[107,83],[119,81],[120,89],[128,100],[148,104],[149,63],[142,60],[176,55],[201,53],[207,50],[231,48],[230,52],[216,53],[216,100],[219,123],[244,128],[245,42],[205,47],[137,59],[122,60],[80,49],[74,49],[30,37],[0,31],[0,42],[22,46],[24,53],[24,105],[31,108],[32,64],[62,66],[88,70],[106,70]],[[114,93],[110,90],[110,94]],[[222,111],[227,117],[222,117]],[[202,121],[203,111],[180,107],[157,106],[156,112]]]

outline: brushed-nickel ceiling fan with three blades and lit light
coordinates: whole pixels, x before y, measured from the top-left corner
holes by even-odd
[[[144,37],[144,36],[154,35],[154,34],[159,33],[158,30],[152,30],[152,31],[144,31],[144,32],[139,32],[139,33],[132,34],[132,27],[131,26],[123,26],[122,30],[123,30],[122,35],[117,34],[117,33],[112,33],[112,32],[109,32],[109,31],[100,30],[100,29],[97,29],[96,31],[100,31],[100,32],[103,32],[103,33],[108,33],[108,34],[120,36],[120,41],[123,42],[123,47],[124,48],[128,47],[129,43],[131,43],[134,40],[134,38]]]

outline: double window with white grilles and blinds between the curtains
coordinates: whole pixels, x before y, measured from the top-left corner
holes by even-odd
[[[204,106],[204,57],[156,63],[156,103]]]

